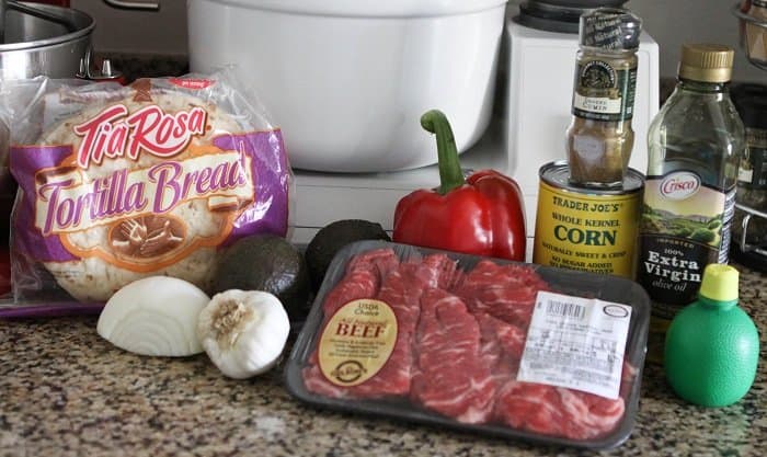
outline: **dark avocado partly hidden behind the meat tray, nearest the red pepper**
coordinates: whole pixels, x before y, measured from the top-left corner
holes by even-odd
[[[360,240],[391,241],[391,238],[380,224],[363,219],[336,220],[317,232],[305,252],[314,292],[320,288],[335,254],[346,244]]]

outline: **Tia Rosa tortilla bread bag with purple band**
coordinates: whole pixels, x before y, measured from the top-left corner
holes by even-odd
[[[22,84],[34,95],[11,133],[16,306],[103,302],[152,275],[208,290],[220,248],[287,235],[282,133],[229,72]]]

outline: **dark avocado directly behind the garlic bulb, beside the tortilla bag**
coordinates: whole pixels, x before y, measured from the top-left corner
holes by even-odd
[[[310,283],[300,251],[282,237],[253,235],[222,252],[213,278],[213,294],[229,289],[263,290],[279,298],[293,321],[309,312]]]

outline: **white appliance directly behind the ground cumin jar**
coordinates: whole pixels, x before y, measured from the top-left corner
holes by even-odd
[[[566,158],[564,133],[572,118],[577,35],[527,27],[515,19],[507,22],[506,35],[510,46],[504,127],[507,171],[527,191],[538,185],[536,164]],[[646,133],[660,105],[659,47],[645,32],[640,36],[637,56],[637,95],[631,121],[634,144],[629,167],[643,173],[648,163]]]

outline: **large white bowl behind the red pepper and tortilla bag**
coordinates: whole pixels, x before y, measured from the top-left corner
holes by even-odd
[[[283,129],[294,168],[436,162],[421,114],[458,149],[490,119],[506,0],[188,0],[190,66],[236,64]]]

